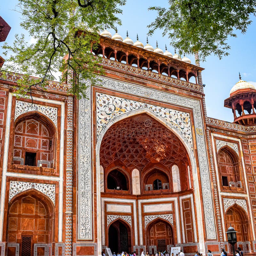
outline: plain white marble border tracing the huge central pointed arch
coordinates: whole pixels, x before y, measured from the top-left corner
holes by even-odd
[[[97,180],[97,208],[99,209],[100,207],[100,145],[101,145],[101,141],[104,137],[104,134],[107,132],[107,130],[115,123],[126,119],[127,117],[130,116],[135,116],[138,114],[142,114],[142,113],[146,113],[149,116],[151,116],[152,118],[154,118],[156,121],[158,121],[159,123],[163,124],[167,129],[169,129],[170,131],[172,131],[182,142],[182,144],[184,145],[184,147],[187,149],[188,155],[189,155],[189,159],[190,159],[190,163],[191,163],[191,167],[192,167],[192,173],[193,173],[193,180],[194,180],[194,188],[195,188],[195,195],[196,196],[196,202],[197,205],[199,205],[199,207],[196,208],[196,213],[197,216],[197,220],[198,220],[198,233],[199,233],[199,237],[201,236],[202,239],[200,241],[203,241],[203,224],[202,224],[202,215],[201,215],[201,201],[200,201],[200,196],[199,196],[199,181],[198,181],[198,176],[197,176],[197,170],[196,170],[196,160],[194,157],[194,153],[191,150],[191,147],[188,145],[187,141],[185,141],[184,137],[181,135],[180,132],[178,132],[176,129],[174,129],[170,124],[168,124],[163,118],[156,116],[154,113],[150,112],[148,109],[138,109],[138,110],[133,110],[131,112],[125,113],[121,116],[117,116],[113,119],[111,119],[108,124],[101,130],[99,136],[98,136],[98,140],[97,140],[97,145],[96,145],[96,180]],[[97,214],[99,216],[99,212]],[[97,219],[97,226],[100,227],[100,221],[101,218],[98,217]],[[99,237],[101,237],[101,230],[100,228],[98,228],[98,239]],[[101,244],[101,241],[98,240],[98,243]],[[140,244],[143,244],[143,241],[140,240]],[[100,246],[100,245],[99,245]],[[202,246],[204,246],[204,243],[202,243]]]

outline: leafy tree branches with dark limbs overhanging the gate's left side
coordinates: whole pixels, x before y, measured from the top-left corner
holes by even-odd
[[[97,83],[96,73],[102,72],[100,59],[91,53],[92,42],[97,47],[97,31],[105,26],[121,25],[117,15],[124,4],[125,0],[19,0],[20,26],[36,43],[28,44],[24,35],[16,35],[13,45],[3,46],[5,70],[24,74],[18,81],[18,93],[31,95],[35,87],[43,90],[48,79],[56,79],[57,71],[63,73],[60,80],[64,82],[72,70],[75,76],[69,92],[85,96],[84,81]],[[91,33],[81,32],[86,30]],[[30,79],[31,74],[40,79]]]

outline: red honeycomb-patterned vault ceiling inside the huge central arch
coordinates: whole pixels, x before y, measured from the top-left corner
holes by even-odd
[[[130,171],[142,171],[149,163],[161,163],[170,170],[180,160],[189,162],[179,138],[147,114],[127,117],[107,130],[100,146],[100,164],[105,169],[116,160]]]

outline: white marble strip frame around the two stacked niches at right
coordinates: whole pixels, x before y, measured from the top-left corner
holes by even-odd
[[[242,151],[242,143],[241,143],[241,140],[240,139],[237,139],[237,138],[234,138],[234,137],[230,137],[230,136],[225,136],[225,135],[220,135],[220,134],[217,134],[217,133],[211,133],[211,138],[212,138],[212,155],[213,155],[213,159],[214,159],[214,167],[215,167],[215,175],[216,175],[216,181],[217,181],[217,188],[218,188],[218,191],[219,191],[219,202],[220,202],[220,214],[221,214],[221,223],[222,223],[222,228],[223,228],[223,234],[226,233],[226,230],[225,230],[225,223],[224,223],[224,209],[222,207],[222,196],[238,196],[238,197],[241,197],[241,199],[244,199],[244,197],[247,197],[247,201],[250,202],[250,197],[249,197],[249,194],[247,192],[247,194],[238,194],[238,193],[226,193],[226,192],[220,192],[220,180],[219,180],[219,169],[218,169],[218,165],[217,165],[217,153],[216,153],[216,150],[215,150],[215,147],[214,147],[214,137],[216,138],[222,138],[222,139],[228,139],[228,140],[235,140],[238,142],[239,144],[239,151],[241,153],[241,156],[243,156],[243,151]],[[244,165],[244,157],[241,157],[242,159],[242,170],[243,170],[243,173],[244,173],[244,180],[246,181],[247,178],[246,178],[246,171],[245,171],[245,165]],[[248,189],[248,184],[247,182],[244,182],[245,184],[245,188],[246,188],[246,191],[249,191]],[[251,219],[251,227],[252,227],[252,235],[253,235],[253,240],[255,240],[255,230],[254,230],[254,223],[253,223],[253,217],[252,217],[252,208],[251,208],[251,204],[248,204],[248,212],[250,214],[250,219]],[[224,241],[226,242],[227,241],[227,238],[226,236],[223,236],[224,238]]]

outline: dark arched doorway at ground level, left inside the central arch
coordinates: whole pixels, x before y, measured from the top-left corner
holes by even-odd
[[[122,221],[116,220],[108,228],[108,247],[111,252],[131,252],[131,230]]]

